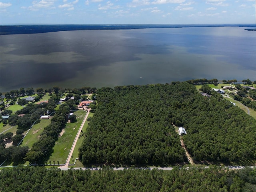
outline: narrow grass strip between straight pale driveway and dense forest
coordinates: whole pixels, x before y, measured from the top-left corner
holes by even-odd
[[[93,113],[90,113],[90,114],[88,115],[88,118],[90,118],[90,117],[92,117],[92,116],[93,116]],[[87,118],[87,120],[86,120],[86,122],[85,122],[85,124],[84,124],[83,129],[82,129],[82,131],[83,131],[84,133],[86,132],[86,129],[87,129],[87,127],[88,127],[88,123],[89,123],[88,118]],[[82,135],[82,133],[80,133],[80,136],[81,136],[81,135]],[[78,149],[79,149],[79,147],[82,145],[83,140],[84,140],[84,135],[82,136],[82,138],[80,137],[80,139],[78,139],[78,141],[76,142],[76,147],[75,147],[74,152],[73,152],[73,154],[72,154],[74,160],[75,160],[76,158],[78,158]],[[73,159],[71,158],[70,163],[73,162]],[[82,164],[79,160],[76,160],[76,164],[75,164],[74,166],[70,166],[70,167],[83,167],[83,164]]]

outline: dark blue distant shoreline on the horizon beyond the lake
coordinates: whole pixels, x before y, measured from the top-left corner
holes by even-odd
[[[75,30],[128,30],[147,28],[185,28],[185,27],[256,27],[255,24],[110,24],[110,25],[76,25],[76,24],[24,24],[0,25],[0,35],[36,34]],[[247,29],[246,29],[247,30]],[[250,29],[249,29],[250,30]]]

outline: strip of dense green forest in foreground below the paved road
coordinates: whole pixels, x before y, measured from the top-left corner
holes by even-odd
[[[228,170],[175,167],[171,171],[129,168],[113,171],[63,171],[57,168],[17,167],[0,172],[2,192],[255,192],[256,169]]]

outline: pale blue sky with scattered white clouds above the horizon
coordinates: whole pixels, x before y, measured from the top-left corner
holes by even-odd
[[[255,24],[256,0],[0,0],[0,24]]]

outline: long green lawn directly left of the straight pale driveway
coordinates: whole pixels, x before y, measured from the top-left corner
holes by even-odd
[[[55,164],[57,164],[58,161],[59,161],[59,164],[64,164],[68,158],[68,154],[71,150],[71,147],[76,137],[76,134],[78,132],[78,129],[80,128],[82,121],[84,120],[84,116],[86,115],[86,111],[78,110],[74,112],[74,114],[76,115],[77,121],[74,123],[67,123],[66,128],[62,130],[64,131],[64,133],[56,141],[55,146],[53,148],[54,152],[49,159],[49,161],[51,161],[51,164],[54,163],[53,161],[55,161]],[[71,162],[72,162],[72,158],[71,158]]]

